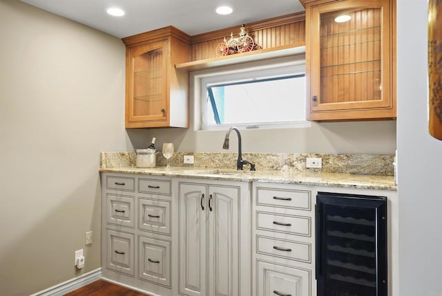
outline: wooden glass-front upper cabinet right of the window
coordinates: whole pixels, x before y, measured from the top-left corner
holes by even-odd
[[[306,1],[307,118],[396,118],[394,3]],[[348,21],[337,22],[347,15]]]

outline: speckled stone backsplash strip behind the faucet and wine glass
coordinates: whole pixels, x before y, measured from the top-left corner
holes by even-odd
[[[193,155],[194,164],[183,163],[184,155]],[[322,158],[321,169],[305,167],[307,157]],[[176,152],[169,160],[171,167],[199,167],[204,169],[236,169],[236,153]],[[102,152],[100,167],[135,167],[137,156],[133,151]],[[300,172],[327,172],[374,176],[394,176],[394,155],[371,154],[294,154],[294,153],[244,153],[242,159],[256,165],[257,171],[293,170]],[[157,167],[166,165],[166,158],[157,155]],[[248,165],[244,169],[249,169]]]

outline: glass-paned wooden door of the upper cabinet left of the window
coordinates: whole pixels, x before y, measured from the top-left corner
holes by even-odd
[[[166,41],[133,48],[128,54],[126,120],[166,121]]]

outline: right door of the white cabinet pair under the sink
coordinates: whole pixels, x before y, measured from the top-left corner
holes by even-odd
[[[210,295],[239,295],[237,187],[209,187]]]

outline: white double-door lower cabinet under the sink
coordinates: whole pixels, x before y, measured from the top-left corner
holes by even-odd
[[[181,295],[251,295],[249,187],[244,182],[177,182]]]

